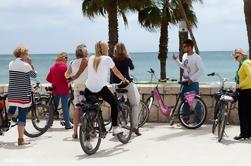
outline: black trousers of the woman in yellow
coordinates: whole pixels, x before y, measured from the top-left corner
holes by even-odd
[[[240,119],[240,135],[251,136],[251,89],[240,91],[238,113]]]

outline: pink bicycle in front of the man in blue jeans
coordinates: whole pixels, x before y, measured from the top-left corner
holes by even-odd
[[[148,73],[151,74],[151,81],[153,77],[157,79],[155,72],[152,68]],[[158,79],[157,79],[158,80]],[[177,80],[171,80],[177,81]],[[176,99],[176,103],[172,107],[168,107],[164,104],[164,101],[160,95],[158,86],[154,87],[151,96],[147,98],[146,105],[149,108],[149,111],[145,112],[144,117],[142,117],[142,121],[140,122],[141,126],[148,120],[151,107],[153,105],[154,99],[157,100],[159,111],[166,117],[169,117],[170,125],[174,124],[174,120],[178,117],[180,123],[188,128],[188,129],[196,129],[199,128],[206,120],[207,117],[207,107],[205,102],[201,99],[199,95],[196,95],[194,91],[187,92],[184,96],[181,95],[183,86],[186,82],[178,82],[181,85],[180,92],[178,93],[178,97]],[[183,98],[182,98],[183,97]],[[177,112],[177,113],[176,113]]]

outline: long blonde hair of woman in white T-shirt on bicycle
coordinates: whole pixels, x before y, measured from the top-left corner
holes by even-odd
[[[95,45],[95,58],[93,61],[93,67],[94,67],[95,71],[98,70],[98,66],[101,61],[101,56],[107,55],[107,54],[108,54],[107,43],[104,41],[99,41],[98,43],[96,43],[96,45]]]

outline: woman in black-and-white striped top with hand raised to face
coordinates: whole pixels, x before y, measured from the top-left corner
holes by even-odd
[[[27,47],[18,46],[13,52],[16,59],[9,63],[8,117],[11,119],[18,109],[18,145],[29,144],[24,141],[24,127],[31,105],[30,77],[37,76],[28,51]]]

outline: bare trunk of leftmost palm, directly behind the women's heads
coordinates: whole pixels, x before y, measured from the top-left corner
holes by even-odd
[[[115,44],[118,43],[118,1],[109,0],[108,8],[108,33],[109,33],[109,50],[108,55],[113,57],[113,49]]]

